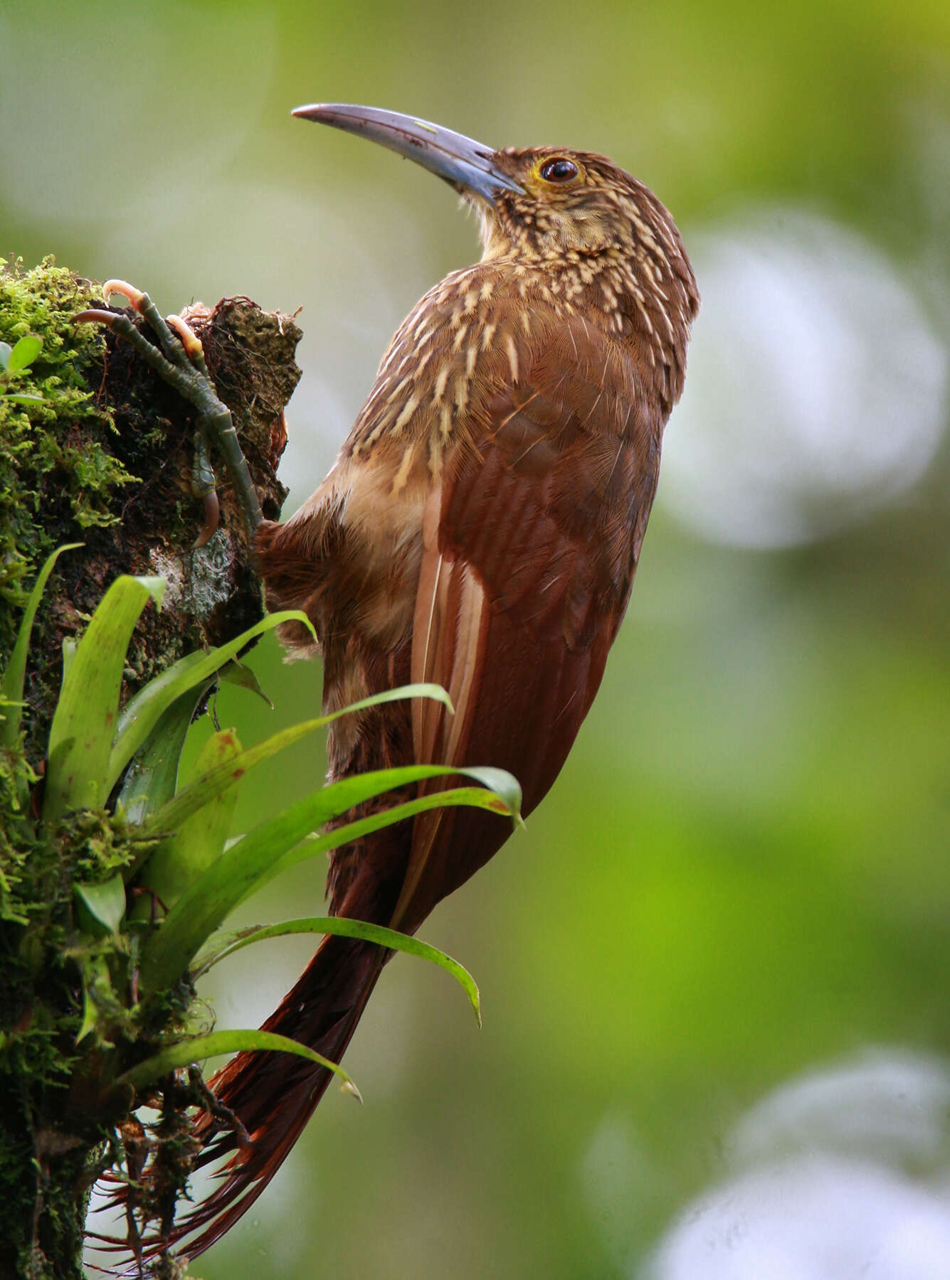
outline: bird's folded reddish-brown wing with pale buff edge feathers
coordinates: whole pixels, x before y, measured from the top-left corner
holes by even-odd
[[[656,490],[659,429],[607,343],[568,330],[522,355],[524,380],[460,425],[424,511],[411,671],[456,714],[414,704],[415,756],[511,771],[525,813],[597,692]],[[394,924],[416,928],[508,831],[475,810],[420,817]]]

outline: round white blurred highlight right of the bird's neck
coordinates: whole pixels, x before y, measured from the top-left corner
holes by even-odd
[[[703,305],[661,502],[716,541],[785,547],[919,480],[945,426],[947,351],[883,253],[784,207],[689,243]]]

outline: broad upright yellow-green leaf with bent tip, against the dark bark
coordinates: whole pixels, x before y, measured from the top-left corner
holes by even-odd
[[[70,809],[105,804],[115,781],[108,769],[125,650],[146,603],[151,599],[160,605],[164,590],[164,577],[119,577],[92,614],[52,717],[44,822],[55,822]]]

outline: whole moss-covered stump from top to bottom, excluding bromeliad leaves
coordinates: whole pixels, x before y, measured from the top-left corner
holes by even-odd
[[[168,580],[163,611],[149,605],[136,630],[127,694],[262,613],[223,468],[221,525],[206,547],[192,548],[204,513],[191,493],[189,406],[111,334],[74,323],[93,306],[102,306],[99,291],[51,260],[29,271],[0,268],[0,340],[42,339],[15,383],[17,393],[41,399],[4,397],[13,387],[0,383],[0,671],[40,564],[58,545],[85,544],[60,557],[50,580],[33,628],[24,732],[0,750],[0,1276],[28,1280],[79,1280],[91,1181],[110,1162],[111,1143],[122,1140],[127,1157],[134,1147],[131,1091],[101,1078],[102,1050],[111,1038],[145,1053],[142,1046],[182,1025],[191,998],[179,984],[147,1016],[134,996],[110,1007],[110,992],[134,987],[128,938],[77,931],[73,882],[114,876],[141,844],[108,808],[67,815],[55,831],[37,820],[63,644],[82,632],[120,573]],[[300,376],[300,330],[246,298],[192,307],[187,317],[232,410],[265,515],[277,518],[284,490],[275,466],[283,408]],[[97,965],[96,1034],[77,1044]]]

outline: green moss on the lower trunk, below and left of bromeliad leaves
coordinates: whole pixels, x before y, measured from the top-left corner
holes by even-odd
[[[8,764],[15,755],[6,753]],[[0,783],[10,772],[0,769]],[[79,928],[74,883],[108,879],[141,851],[136,828],[105,810],[72,813],[54,831],[24,814],[3,832],[4,1276],[82,1280],[83,1188],[114,1164],[119,1133],[129,1123],[132,1091],[111,1082],[118,1069],[150,1056],[165,1037],[181,1037],[191,1012],[193,991],[184,980],[147,1004],[131,997],[134,928],[100,936]],[[178,1120],[187,1128],[184,1103]],[[178,1146],[172,1142],[163,1151],[175,1178],[170,1203],[187,1181],[193,1155],[191,1148],[178,1153]]]

